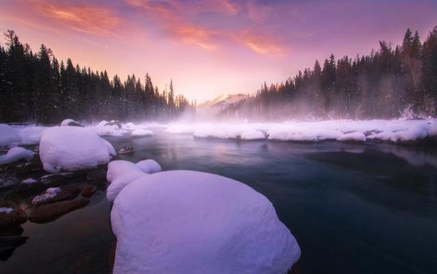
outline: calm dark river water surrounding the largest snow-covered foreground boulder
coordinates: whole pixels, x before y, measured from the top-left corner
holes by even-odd
[[[299,242],[300,273],[437,273],[434,147],[194,140],[159,130],[133,147],[126,160],[217,173],[263,193]],[[57,221],[25,223],[29,239],[0,273],[107,273],[110,209],[99,192]]]

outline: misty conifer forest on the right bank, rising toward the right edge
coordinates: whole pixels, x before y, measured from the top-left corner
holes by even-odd
[[[401,45],[354,60],[330,55],[323,67],[299,71],[285,82],[230,105],[222,117],[241,119],[394,119],[437,115],[437,27],[421,43],[407,29]]]

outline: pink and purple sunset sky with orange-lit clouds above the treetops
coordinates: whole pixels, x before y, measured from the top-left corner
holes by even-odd
[[[331,53],[397,44],[407,27],[423,40],[436,14],[436,0],[0,0],[0,30],[110,76],[149,73],[159,90],[172,79],[201,103],[256,92]]]

